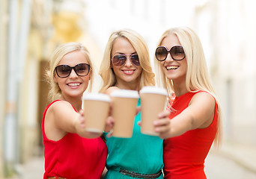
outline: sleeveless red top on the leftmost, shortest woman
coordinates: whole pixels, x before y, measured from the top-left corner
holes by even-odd
[[[106,163],[107,148],[103,139],[85,139],[78,134],[66,134],[58,141],[47,139],[44,132],[46,107],[43,113],[42,133],[45,157],[43,178],[62,177],[67,179],[100,178]],[[74,108],[75,110],[75,108]]]

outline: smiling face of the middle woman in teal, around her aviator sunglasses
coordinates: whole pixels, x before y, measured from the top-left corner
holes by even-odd
[[[124,37],[118,37],[112,48],[112,57],[118,54],[137,54],[132,44]],[[141,66],[135,66],[130,60],[130,55],[127,55],[127,60],[123,66],[115,66],[113,63],[111,67],[115,73],[117,87],[131,88],[138,87],[142,68]],[[135,90],[135,89],[133,89]]]

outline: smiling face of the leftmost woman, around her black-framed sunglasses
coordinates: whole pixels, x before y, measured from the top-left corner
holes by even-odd
[[[76,66],[79,63],[88,64],[88,60],[86,59],[85,54],[83,54],[82,51],[71,51],[61,58],[57,66]],[[79,76],[76,74],[74,69],[72,69],[70,75],[67,78],[59,78],[55,73],[54,79],[61,89],[61,98],[81,98],[83,92],[85,92],[88,87],[90,72],[87,76]]]

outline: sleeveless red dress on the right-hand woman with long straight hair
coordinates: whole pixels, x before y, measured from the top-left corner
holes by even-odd
[[[176,97],[171,104],[173,112],[169,119],[174,118],[188,107],[193,95],[187,92]],[[165,139],[164,141],[164,173],[168,179],[205,179],[204,160],[216,136],[217,104],[212,124],[204,129],[187,131],[185,134]]]

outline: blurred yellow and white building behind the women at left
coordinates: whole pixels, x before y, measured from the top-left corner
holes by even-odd
[[[87,38],[82,1],[3,0],[0,8],[0,178],[10,178],[22,173],[22,163],[43,155],[49,55],[61,43]]]

